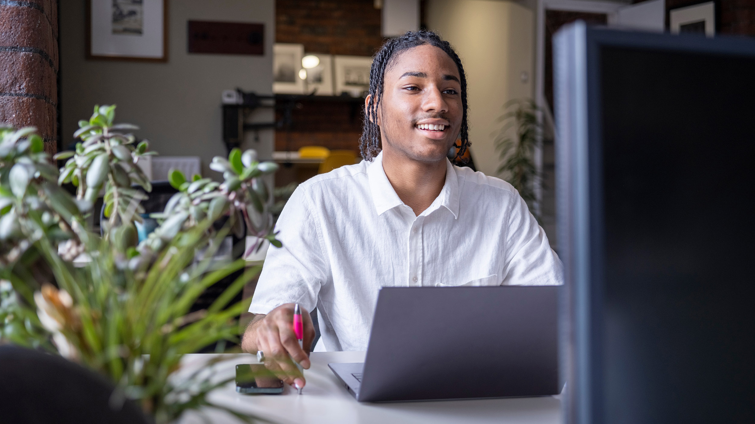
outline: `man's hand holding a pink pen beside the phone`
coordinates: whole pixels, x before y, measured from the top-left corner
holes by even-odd
[[[270,311],[267,315],[254,315],[244,332],[242,349],[256,353],[261,350],[265,355],[265,367],[291,386],[304,387],[304,376],[296,364],[310,367],[310,346],[315,338],[312,317],[306,309],[301,308],[304,321],[304,349],[294,333],[294,303],[285,303]]]

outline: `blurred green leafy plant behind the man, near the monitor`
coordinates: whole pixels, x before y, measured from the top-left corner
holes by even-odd
[[[498,118],[504,126],[495,138],[495,147],[501,152],[498,174],[519,191],[532,210],[535,184],[540,180],[534,158],[542,130],[538,106],[532,100],[511,100],[504,109]]]

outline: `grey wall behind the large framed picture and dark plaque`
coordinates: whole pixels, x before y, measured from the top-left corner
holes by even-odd
[[[95,103],[118,105],[116,119],[140,126],[161,155],[202,158],[202,174],[220,177],[208,164],[226,155],[222,138],[220,92],[242,88],[272,94],[275,0],[171,0],[168,63],[85,60],[85,1],[60,2],[60,75],[63,146],[71,143],[76,122],[89,118]],[[188,54],[188,20],[264,23],[263,56]],[[253,121],[272,121],[272,109],[255,112]],[[243,148],[270,158],[273,131],[248,134]]]

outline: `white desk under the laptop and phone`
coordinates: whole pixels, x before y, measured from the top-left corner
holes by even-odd
[[[190,370],[201,366],[212,354],[184,357]],[[256,363],[252,355],[231,356],[217,364],[217,376],[233,376],[236,364]],[[468,401],[401,402],[360,404],[333,375],[328,362],[362,362],[365,352],[313,352],[312,367],[304,370],[307,386],[302,395],[286,386],[282,395],[239,395],[233,383],[211,393],[209,399],[235,410],[254,413],[272,422],[285,424],[458,424],[462,422],[556,424],[562,422],[560,401],[553,396],[541,398],[507,398]],[[449,355],[448,358],[451,361]],[[236,422],[229,416],[209,413],[213,422]],[[198,416],[186,416],[181,424],[202,422]]]

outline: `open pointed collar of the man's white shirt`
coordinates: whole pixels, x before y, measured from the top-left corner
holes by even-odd
[[[370,183],[372,201],[374,201],[375,210],[378,215],[382,215],[386,210],[404,204],[399,198],[399,195],[396,194],[396,190],[390,185],[390,181],[385,174],[385,170],[383,169],[383,152],[380,152],[375,156],[372,163],[367,165],[367,177]],[[445,183],[443,184],[443,189],[440,191],[438,198],[436,198],[435,201],[433,201],[433,204],[425,210],[423,215],[429,214],[439,206],[444,206],[454,215],[454,219],[458,219],[458,186],[458,177],[454,165],[446,159]],[[436,204],[438,204],[438,206],[436,206]]]

